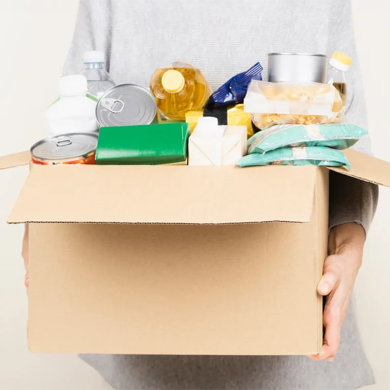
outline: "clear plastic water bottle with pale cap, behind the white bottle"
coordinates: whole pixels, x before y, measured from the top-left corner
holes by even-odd
[[[100,98],[104,92],[116,84],[111,76],[104,70],[103,51],[86,51],[84,53],[84,76],[88,81],[88,93]]]

